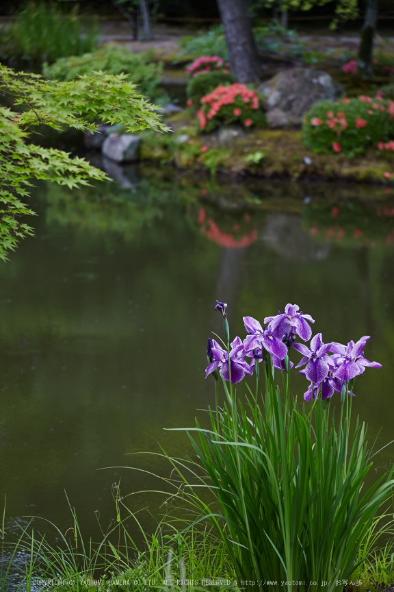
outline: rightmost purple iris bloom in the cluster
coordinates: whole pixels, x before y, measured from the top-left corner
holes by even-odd
[[[364,358],[364,347],[369,340],[369,335],[361,337],[356,343],[349,341],[347,347],[341,343],[333,342],[330,345],[330,351],[332,354],[332,360],[334,360],[337,369],[335,370],[335,376],[339,380],[346,382],[352,380],[358,374],[362,374],[365,371],[365,367],[370,368],[381,368],[382,365],[379,362],[369,362],[367,358]]]

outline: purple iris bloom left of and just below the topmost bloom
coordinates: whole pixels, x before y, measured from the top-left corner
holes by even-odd
[[[279,360],[284,360],[287,355],[287,346],[283,343],[282,338],[291,330],[290,322],[283,319],[281,323],[276,324],[273,329],[268,325],[264,329],[261,324],[253,317],[244,317],[245,328],[249,335],[244,339],[245,351],[253,351],[264,347],[272,356],[276,356]]]

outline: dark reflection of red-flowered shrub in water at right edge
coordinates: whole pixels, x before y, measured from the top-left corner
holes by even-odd
[[[393,203],[313,204],[304,208],[302,217],[315,240],[345,247],[394,245]]]

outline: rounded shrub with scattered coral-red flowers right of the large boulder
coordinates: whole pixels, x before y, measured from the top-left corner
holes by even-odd
[[[315,152],[363,153],[394,137],[394,101],[365,95],[321,101],[306,114],[302,137]]]

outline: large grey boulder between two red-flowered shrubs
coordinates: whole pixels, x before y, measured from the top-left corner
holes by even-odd
[[[323,70],[292,68],[263,82],[257,92],[263,96],[267,121],[272,127],[299,124],[319,101],[335,101],[343,86]]]

